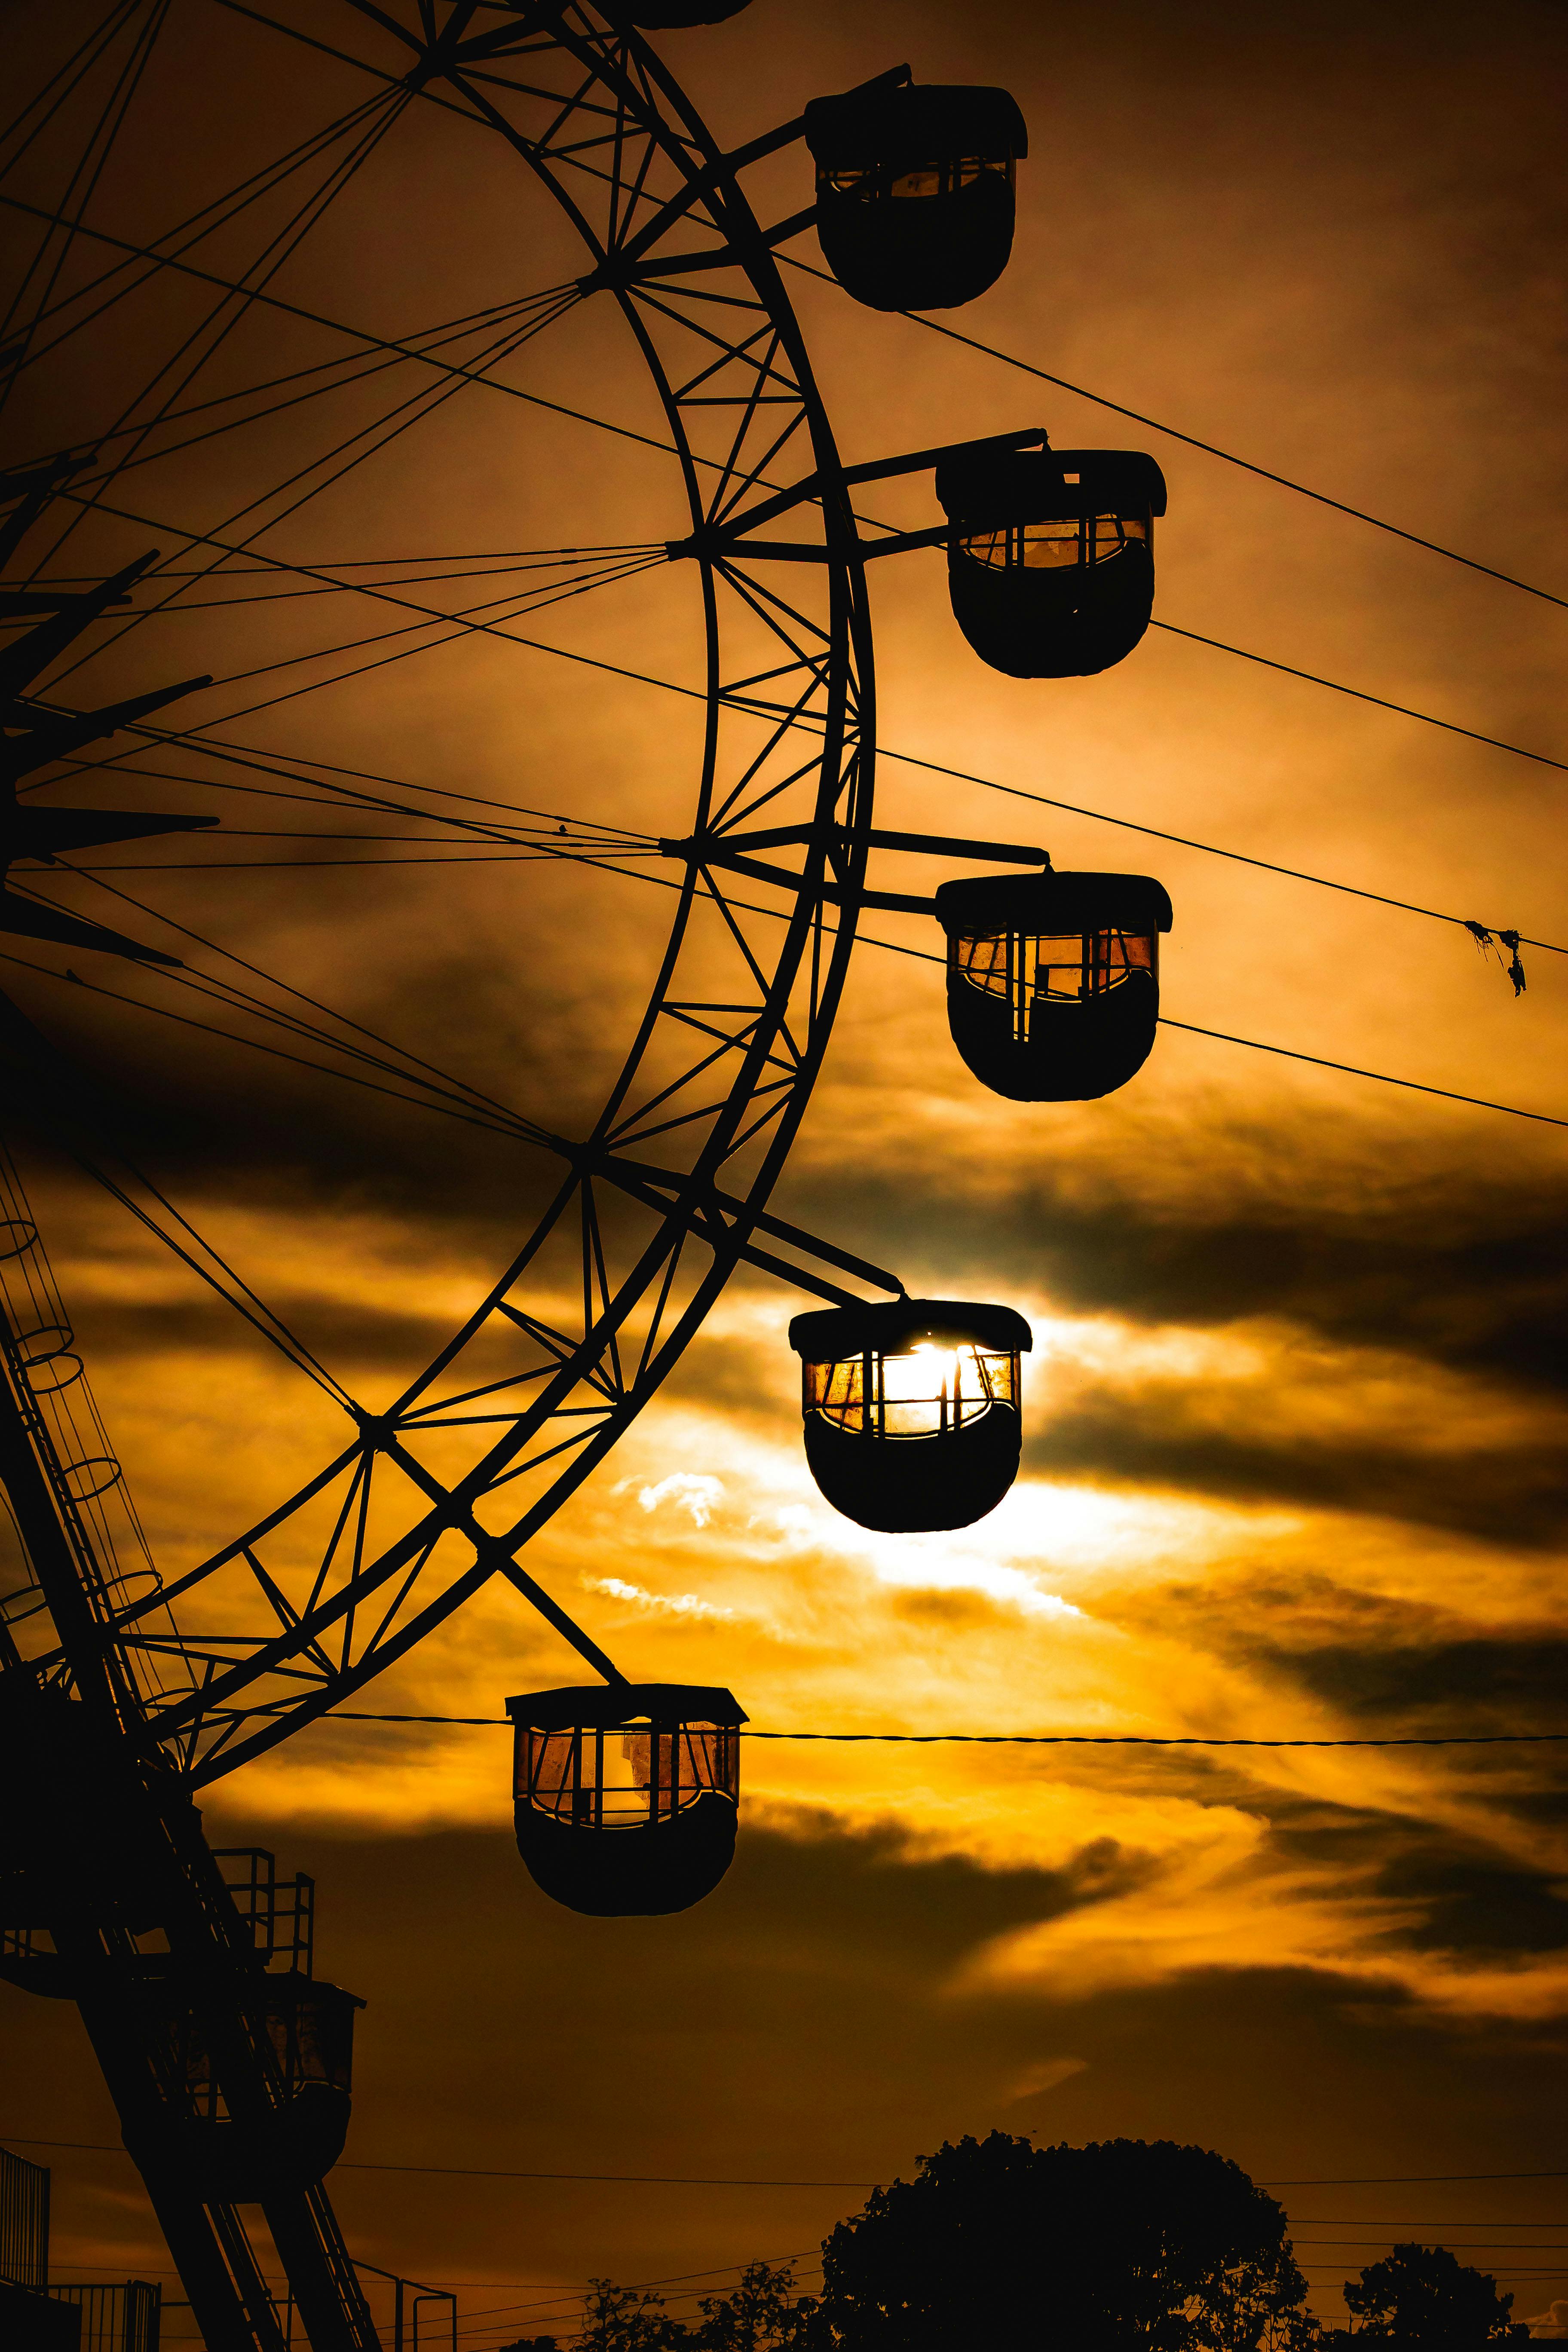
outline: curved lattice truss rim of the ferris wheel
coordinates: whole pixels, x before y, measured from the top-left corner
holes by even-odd
[[[449,9],[425,40],[421,12],[409,7],[404,42],[418,56],[402,82],[416,89],[414,103],[465,106],[503,136],[578,228],[590,275],[623,275],[614,299],[658,388],[691,532],[731,515],[752,487],[795,480],[790,463],[802,461],[792,445],[811,452],[809,513],[823,560],[806,595],[780,597],[733,550],[691,557],[705,623],[691,833],[738,830],[766,804],[771,823],[797,823],[802,863],[788,880],[748,882],[748,898],[766,901],[750,913],[776,922],[769,957],[755,953],[755,927],[738,920],[724,877],[701,858],[684,863],[654,993],[592,1131],[569,1143],[534,1129],[564,1152],[567,1176],[501,1279],[390,1411],[371,1416],[348,1399],[353,1439],[306,1486],[162,1592],[141,1583],[113,1606],[115,1639],[146,1698],[141,1736],[162,1743],[197,1783],[362,1689],[494,1573],[510,1576],[602,1672],[616,1672],[515,1555],[604,1461],[722,1294],[804,1117],[853,946],[872,823],[865,579],[832,430],[778,268],[733,169],[646,42],[581,7],[536,21],[517,12],[515,42],[489,40],[480,82],[473,45],[461,40],[470,14]],[[388,21],[343,0],[341,26],[369,28],[374,59],[388,47]],[[456,40],[447,40],[451,28]],[[498,73],[505,66],[515,66],[510,80]],[[393,87],[386,64],[364,71]],[[597,212],[585,183],[595,183]],[[649,235],[656,207],[668,226]],[[715,249],[722,263],[710,259]],[[628,256],[644,273],[656,263],[656,275],[625,280]],[[726,296],[741,325],[719,348],[712,296],[726,287],[741,289]],[[736,666],[729,647],[741,623],[773,637],[780,659],[771,675]],[[802,741],[816,746],[804,760]],[[715,931],[733,934],[752,997],[726,1007],[729,1035],[717,1044],[710,1021],[701,1051],[682,1065],[689,1049],[675,1047],[675,1033],[691,1035],[684,974],[696,971],[701,985]],[[715,1068],[724,1070],[722,1094]],[[691,1108],[693,1096],[708,1101]],[[602,1214],[607,1188],[618,1202],[614,1232]],[[576,1324],[527,1305],[529,1284],[562,1249],[581,1265]],[[475,1385],[463,1367],[496,1329],[508,1334],[517,1369]],[[515,1411],[520,1383],[531,1385],[527,1411]],[[508,1414],[494,1416],[501,1430],[473,1442],[475,1458],[454,1475],[454,1406],[505,1402],[508,1390]],[[388,1524],[388,1484],[402,1496],[404,1524],[383,1541],[367,1529]],[[324,1545],[306,1541],[320,1522],[329,1526]],[[176,1635],[167,1611],[200,1588],[205,1599],[223,1590],[230,1602],[259,1604],[242,1653],[233,1642],[205,1651]]]

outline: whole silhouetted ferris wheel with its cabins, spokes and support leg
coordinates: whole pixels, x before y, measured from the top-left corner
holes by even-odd
[[[167,0],[122,0],[73,54],[61,40],[45,59],[0,146],[0,191],[14,191],[31,238],[5,327],[14,428],[0,477],[9,946],[28,946],[33,974],[78,988],[96,988],[113,960],[132,1002],[153,1002],[136,988],[195,988],[209,1023],[214,1007],[270,1023],[317,1056],[313,1068],[463,1117],[555,1169],[489,1289],[369,1409],[134,1167],[92,1077],[35,1014],[38,981],[24,983],[26,1009],[0,1009],[24,1117],[242,1315],[339,1425],[292,1491],[200,1559],[160,1569],[7,1169],[0,1477],[19,1543],[0,1623],[0,1738],[38,1802],[0,1853],[0,1973],[82,2006],[214,2347],[282,2343],[247,2204],[261,2204],[317,2352],[369,2347],[374,2326],[322,2187],[348,2122],[353,1997],[301,1962],[299,1884],[280,1886],[270,1858],[266,1870],[256,1856],[226,1867],[202,1839],[195,1795],[346,1705],[501,1576],[599,1677],[508,1700],[529,1870],[588,1912],[698,1900],[733,1849],[743,1710],[729,1691],[630,1682],[529,1573],[529,1541],[604,1463],[741,1265],[816,1301],[790,1343],[806,1461],[835,1508],[889,1531],[964,1526],[1006,1494],[1020,1458],[1025,1319],[994,1303],[910,1298],[893,1272],[769,1207],[860,913],[922,913],[940,927],[952,1037],[1004,1096],[1107,1094],[1154,1037],[1157,948],[1171,927],[1157,882],[1053,873],[1030,844],[877,828],[867,564],[945,548],[954,621],[983,661],[1020,677],[1093,675],[1150,619],[1159,468],[1135,452],[1053,452],[1041,428],[846,466],[778,268],[778,249],[816,228],[860,303],[973,299],[1009,259],[1025,125],[1006,92],[917,85],[896,66],[726,151],[646,35],[717,24],[741,5],[235,7],[226,31],[242,19],[256,71],[301,87],[327,78],[346,103],[233,188],[219,141],[200,202],[186,191],[190,209],[174,226],[120,238],[89,195],[115,141],[134,139],[136,108],[155,111],[160,38],[179,38],[165,28]],[[75,125],[71,155],[61,125]],[[400,139],[428,162],[425,132],[482,143],[520,216],[524,193],[538,207],[529,249],[555,252],[567,235],[576,273],[421,334],[341,327],[284,299],[280,254],[353,202]],[[748,174],[797,148],[811,202],[764,226]],[[299,174],[308,186],[287,235],[268,216],[240,266],[247,214],[261,216]],[[280,339],[308,329],[313,350],[322,329],[339,343],[235,381],[235,350],[259,322]],[[545,400],[498,374],[571,322],[599,369],[614,348],[614,367],[635,372],[654,405],[649,430],[588,414],[588,395]],[[110,329],[118,367],[87,365]],[[376,393],[371,419],[343,437],[331,400],[383,374],[395,390]],[[635,445],[646,482],[616,496],[644,536],[508,550],[510,569],[487,557],[480,581],[501,595],[456,609],[430,602],[435,557],[299,555],[284,532],[294,515],[477,386],[604,426],[621,456]],[[188,452],[223,435],[259,452],[230,510],[190,489],[205,477]],[[858,510],[863,487],[896,477],[931,480],[929,524],[893,529]],[[172,534],[176,553],[118,560],[127,532],[146,527],[160,543]],[[569,524],[562,536],[574,539]],[[597,811],[543,816],[444,786],[404,790],[374,762],[235,741],[237,722],[273,708],[254,687],[235,703],[256,673],[233,659],[237,600],[226,590],[256,576],[277,595],[369,597],[390,623],[263,666],[315,663],[299,691],[407,652],[529,644],[517,628],[529,614],[592,609],[583,600],[637,581],[658,583],[661,600],[684,593],[696,668],[682,691],[698,724],[682,804],[658,830],[632,830]],[[181,647],[202,644],[207,626],[214,659],[169,680],[153,621],[176,621]],[[327,661],[339,666],[322,670]],[[134,691],[118,691],[127,680]],[[99,682],[113,699],[99,699]],[[153,800],[179,797],[181,809],[103,807],[101,769],[120,797],[125,779],[143,776]],[[89,776],[96,802],[82,807]],[[416,816],[458,847],[527,849],[541,870],[656,870],[670,924],[597,1112],[557,1129],[538,1105],[515,1110],[324,993],[261,971],[207,924],[132,898],[136,915],[108,927],[75,887],[68,903],[49,889],[49,866],[87,875],[82,854],[165,835],[190,835],[200,868],[221,856],[235,790],[273,809],[331,804],[360,828]],[[872,887],[872,856],[1011,870],[922,896]],[[129,894],[103,887],[122,910]],[[195,1613],[216,1630],[193,1632]],[[282,1971],[268,1966],[277,1959]]]

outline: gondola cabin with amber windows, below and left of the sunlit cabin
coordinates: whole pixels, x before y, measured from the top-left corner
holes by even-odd
[[[517,1851],[567,1910],[677,1912],[736,1851],[743,1710],[684,1682],[508,1698]]]

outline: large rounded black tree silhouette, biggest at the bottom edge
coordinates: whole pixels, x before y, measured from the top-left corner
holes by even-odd
[[[1286,2352],[1314,2338],[1281,2206],[1173,2140],[1032,2147],[992,2131],[922,2157],[823,2246],[823,2352]]]

